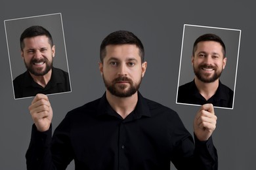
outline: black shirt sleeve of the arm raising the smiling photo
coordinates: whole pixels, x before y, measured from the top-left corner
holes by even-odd
[[[173,150],[171,161],[177,169],[217,170],[218,156],[212,137],[207,141],[199,141],[186,130],[177,115],[173,120]]]

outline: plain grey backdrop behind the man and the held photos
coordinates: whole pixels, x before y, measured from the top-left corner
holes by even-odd
[[[118,29],[133,31],[146,50],[148,69],[140,92],[171,107],[193,133],[199,107],[177,105],[176,92],[184,24],[242,30],[233,110],[215,109],[218,116],[213,140],[219,169],[256,169],[255,39],[253,1],[5,1],[0,5],[1,123],[0,169],[26,169],[30,143],[32,98],[14,100],[4,20],[62,13],[72,93],[50,95],[53,128],[68,110],[102,96],[98,71],[100,42]],[[74,164],[68,169],[74,169]],[[172,168],[174,169],[174,168]]]

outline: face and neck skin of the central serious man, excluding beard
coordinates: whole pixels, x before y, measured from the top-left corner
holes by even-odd
[[[106,46],[106,56],[103,63],[99,63],[100,73],[106,81],[111,82],[118,76],[127,76],[133,82],[139,83],[146,72],[146,61],[141,63],[139,48],[134,44],[108,45]],[[121,81],[116,84],[116,88],[121,90],[120,86],[131,86],[128,82]],[[124,89],[127,90],[127,88]],[[135,109],[138,101],[137,92],[131,97],[116,97],[106,90],[106,98],[111,107],[125,118]]]

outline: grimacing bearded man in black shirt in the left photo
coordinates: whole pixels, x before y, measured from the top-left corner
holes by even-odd
[[[15,98],[37,93],[70,92],[68,73],[53,67],[55,46],[51,33],[41,26],[31,26],[20,35],[21,56],[27,71],[13,80]]]

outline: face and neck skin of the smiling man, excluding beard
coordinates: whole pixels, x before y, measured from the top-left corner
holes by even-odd
[[[215,73],[223,71],[226,60],[227,58],[224,57],[223,48],[219,42],[202,41],[198,42],[196,52],[192,56],[192,66],[200,71],[203,78],[209,79]],[[200,67],[203,64],[209,65],[210,68]],[[213,82],[203,82],[195,76],[195,83],[201,95],[207,100],[215,94],[219,86],[219,78]]]

